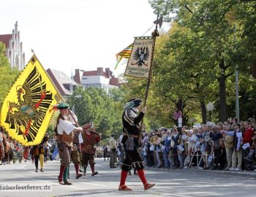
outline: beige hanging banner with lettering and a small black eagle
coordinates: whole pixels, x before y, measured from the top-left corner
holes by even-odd
[[[127,69],[124,72],[125,76],[148,78],[153,43],[152,37],[135,38]]]

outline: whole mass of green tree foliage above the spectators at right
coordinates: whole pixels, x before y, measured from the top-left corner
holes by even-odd
[[[236,67],[240,74],[241,117],[255,115],[255,109],[248,106],[255,101],[255,79],[249,74],[256,76],[256,2],[148,2],[165,21],[173,21],[170,31],[157,38],[147,102],[151,127],[172,125],[176,109],[183,112],[184,121],[190,117],[206,121],[209,101],[215,106],[214,121],[234,116]],[[146,80],[127,78],[127,96],[142,97],[144,87]]]

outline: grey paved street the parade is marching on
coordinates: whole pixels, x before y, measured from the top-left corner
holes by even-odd
[[[256,196],[256,173],[242,176],[223,171],[198,171],[185,169],[146,169],[149,182],[157,185],[144,191],[136,175],[127,178],[127,185],[133,191],[118,191],[120,169],[109,169],[108,161],[97,159],[99,174],[75,179],[75,169],[71,166],[70,182],[73,185],[59,185],[57,176],[59,161],[45,164],[45,172],[34,172],[34,164],[15,163],[0,166],[0,180],[3,185],[50,185],[51,191],[0,190],[0,196]],[[90,171],[89,171],[90,172]],[[255,176],[254,174],[255,173]]]

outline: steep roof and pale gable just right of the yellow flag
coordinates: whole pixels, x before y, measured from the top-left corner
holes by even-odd
[[[48,72],[51,80],[53,80],[54,85],[56,85],[56,88],[59,90],[59,93],[61,93],[61,95],[72,95],[72,93],[69,90],[67,90],[64,87],[64,85],[78,85],[76,82],[67,77],[67,75],[64,74],[64,72],[56,71],[53,69],[47,69],[46,72]]]

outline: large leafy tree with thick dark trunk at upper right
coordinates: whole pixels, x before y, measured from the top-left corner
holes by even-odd
[[[189,73],[189,70],[194,73],[191,75],[194,80],[187,80],[187,83],[195,83],[197,92],[202,93],[203,89],[211,90],[212,88],[214,88],[212,89],[214,91],[217,90],[215,85],[217,80],[219,83],[219,96],[215,96],[215,98],[219,98],[217,104],[219,120],[226,120],[229,99],[227,95],[232,90],[230,82],[233,81],[230,80],[230,76],[233,76],[236,66],[241,67],[244,71],[248,70],[249,63],[253,64],[254,58],[252,57],[255,57],[255,50],[254,53],[249,53],[255,49],[255,34],[249,36],[250,39],[244,39],[246,36],[241,36],[245,35],[245,32],[247,34],[255,33],[255,26],[253,25],[255,24],[253,23],[255,21],[255,12],[253,12],[255,10],[255,1],[155,0],[149,1],[149,3],[156,9],[156,12],[159,9],[162,15],[165,15],[166,21],[174,20],[180,28],[184,28],[184,32],[189,32],[190,36],[189,34],[184,36],[186,34],[182,34],[181,31],[177,34],[177,40],[183,38],[183,42],[179,42],[178,45],[176,45],[176,42],[170,42],[170,50],[175,49],[175,54],[172,54],[173,60],[179,63],[177,66],[186,70],[187,73]],[[243,12],[246,12],[246,14],[243,14]],[[250,14],[252,14],[252,17],[249,17]],[[249,18],[249,20],[246,18]],[[244,21],[247,23],[243,23]],[[246,26],[241,24],[246,24]],[[235,27],[237,28],[236,31],[234,31]],[[247,31],[244,31],[245,29]],[[170,38],[170,40],[173,39]],[[244,43],[249,44],[249,40],[252,41],[252,44],[248,47]],[[195,45],[199,47],[195,47]],[[246,50],[246,47],[250,50]],[[184,51],[184,49],[188,52]],[[191,53],[193,51],[196,53]],[[192,69],[184,67],[189,65],[189,61]],[[195,70],[196,68],[201,69],[201,71],[211,71],[210,73],[216,77],[216,80],[207,80],[207,77],[202,78],[201,76],[206,72]],[[188,77],[189,75],[186,76]],[[205,86],[203,85],[204,82],[211,82],[211,85]],[[190,91],[190,93],[192,92]],[[206,92],[206,96],[210,95],[214,97],[214,94]],[[198,95],[197,98],[199,98]],[[206,112],[203,112],[205,111],[205,104],[202,96],[200,96],[200,105],[202,116],[204,116],[203,114],[206,114]]]

